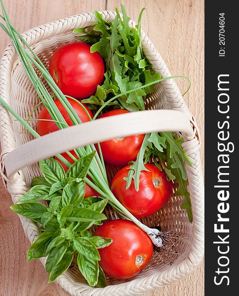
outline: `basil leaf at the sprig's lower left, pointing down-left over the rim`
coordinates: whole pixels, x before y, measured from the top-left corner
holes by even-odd
[[[46,230],[42,232],[28,250],[28,261],[46,256],[47,246],[54,239],[55,236],[55,230]]]

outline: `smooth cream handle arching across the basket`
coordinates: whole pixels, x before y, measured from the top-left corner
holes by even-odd
[[[100,118],[58,130],[32,140],[7,153],[4,158],[8,179],[22,168],[63,153],[118,137],[159,131],[180,131],[192,137],[190,118],[175,110],[148,110]]]

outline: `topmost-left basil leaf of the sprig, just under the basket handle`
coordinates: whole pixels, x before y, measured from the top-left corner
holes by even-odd
[[[53,158],[40,160],[40,170],[50,185],[56,182],[63,183],[66,177],[65,171],[59,161]]]

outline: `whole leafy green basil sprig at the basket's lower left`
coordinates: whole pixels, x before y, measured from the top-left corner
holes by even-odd
[[[31,189],[10,208],[40,224],[42,233],[28,250],[28,260],[46,257],[49,283],[64,273],[74,253],[80,272],[91,286],[106,286],[106,278],[98,261],[97,249],[109,246],[111,238],[93,236],[87,230],[106,220],[102,214],[108,200],[84,197],[85,181],[95,152],[77,160],[64,172],[61,164],[48,158],[40,161],[43,177],[32,180]],[[48,206],[38,202],[46,200]]]

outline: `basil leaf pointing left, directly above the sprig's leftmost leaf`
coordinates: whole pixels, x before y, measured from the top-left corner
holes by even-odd
[[[18,202],[33,202],[40,199],[49,200],[50,187],[47,185],[35,185],[27,193],[18,199]]]

